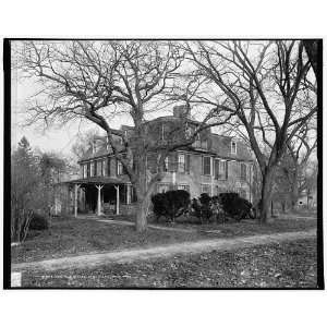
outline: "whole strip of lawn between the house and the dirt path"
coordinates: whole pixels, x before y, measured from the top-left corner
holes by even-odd
[[[207,238],[232,238],[307,230],[316,228],[316,221],[313,219],[276,219],[267,225],[258,225],[249,220],[206,226],[177,223],[174,227],[189,228],[192,229],[192,232],[148,229],[146,232],[136,233],[132,226],[74,218],[53,220],[49,230],[33,232],[23,244],[12,247],[12,263],[130,247],[149,247]]]

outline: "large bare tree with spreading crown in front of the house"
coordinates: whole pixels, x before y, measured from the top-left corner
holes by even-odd
[[[43,85],[28,107],[31,121],[49,124],[86,119],[100,126],[135,187],[136,230],[146,229],[150,195],[162,178],[165,158],[210,126],[208,113],[187,136],[186,119],[181,119],[170,128],[169,137],[153,137],[147,117],[173,98],[184,53],[170,41],[78,40],[28,41],[19,53],[25,75]],[[123,114],[133,122],[132,134],[112,128],[111,120]],[[156,167],[149,172],[147,161],[154,154]]]

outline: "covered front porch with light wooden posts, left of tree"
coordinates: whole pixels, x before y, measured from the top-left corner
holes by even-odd
[[[88,178],[68,181],[70,211],[90,215],[130,214],[136,202],[132,184],[114,178]],[[56,205],[56,204],[55,204]]]

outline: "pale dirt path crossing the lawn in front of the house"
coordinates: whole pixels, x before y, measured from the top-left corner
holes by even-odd
[[[96,253],[78,255],[73,257],[63,257],[56,259],[46,259],[40,262],[13,264],[12,270],[58,270],[70,268],[94,267],[112,263],[131,263],[150,258],[169,257],[178,254],[194,254],[210,251],[230,251],[234,249],[244,249],[258,244],[278,243],[283,241],[294,241],[299,239],[315,238],[316,230],[287,232],[276,234],[262,234],[254,237],[242,237],[234,239],[204,240],[196,242],[174,243],[170,245],[153,246],[150,249],[122,250],[107,253]]]

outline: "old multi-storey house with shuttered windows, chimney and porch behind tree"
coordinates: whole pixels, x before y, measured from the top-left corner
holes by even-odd
[[[156,118],[147,124],[150,126],[154,142],[166,142],[171,137],[171,126],[182,118],[187,126],[185,133],[192,133],[198,122],[185,114],[183,106],[174,107],[173,114]],[[133,137],[133,128],[121,126],[121,131]],[[117,136],[118,144],[121,142]],[[70,198],[69,211],[101,214],[124,214],[133,211],[135,192],[108,145],[106,136],[99,137],[89,152],[80,160],[81,177],[65,183]],[[147,160],[149,173],[156,172]],[[251,184],[253,158],[247,146],[230,136],[204,130],[195,142],[171,153],[165,160],[164,178],[157,183],[157,192],[172,189],[186,190],[192,197],[202,193],[217,195],[222,192],[238,192],[252,201]]]

